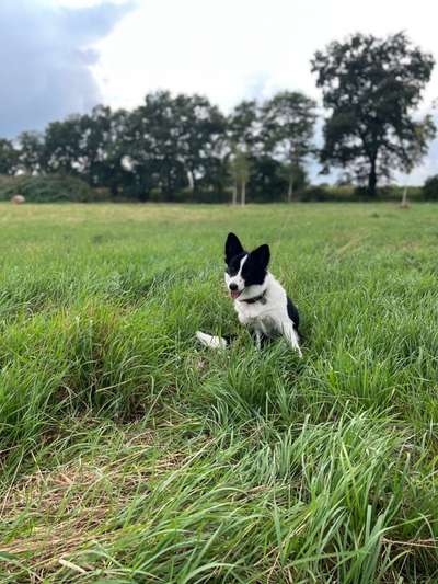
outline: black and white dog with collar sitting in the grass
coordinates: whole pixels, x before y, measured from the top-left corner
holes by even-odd
[[[238,318],[255,333],[257,347],[261,347],[263,339],[280,334],[301,357],[298,310],[281,284],[267,271],[269,257],[268,245],[247,252],[239,238],[229,233],[226,241],[226,284]],[[211,348],[226,347],[229,343],[227,339],[200,331],[196,336],[203,345]]]

